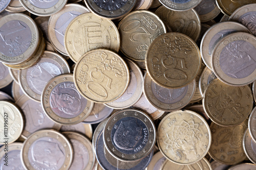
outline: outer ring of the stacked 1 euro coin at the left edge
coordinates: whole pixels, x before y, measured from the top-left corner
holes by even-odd
[[[0,52],[0,61],[2,61],[3,63],[6,63],[6,64],[19,64],[26,60],[31,59],[33,54],[35,53],[36,48],[38,47],[38,42],[40,42],[40,39],[41,39],[39,36],[38,28],[37,28],[34,20],[31,19],[28,15],[25,15],[22,13],[8,14],[8,15],[4,16],[3,18],[1,18],[0,28],[8,21],[17,20],[17,19],[25,22],[28,25],[28,27],[31,31],[32,39],[31,39],[31,43],[30,43],[28,49],[23,54],[21,54],[19,56],[8,57]],[[4,22],[4,20],[5,20],[5,22]],[[7,59],[4,59],[4,58],[7,58]],[[13,58],[15,58],[15,59],[13,59]],[[8,59],[15,60],[15,61],[9,61]]]

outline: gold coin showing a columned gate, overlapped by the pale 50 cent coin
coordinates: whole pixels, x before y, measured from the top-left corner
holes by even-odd
[[[85,13],[70,22],[64,42],[68,55],[76,63],[82,55],[96,48],[118,52],[120,36],[111,20]]]

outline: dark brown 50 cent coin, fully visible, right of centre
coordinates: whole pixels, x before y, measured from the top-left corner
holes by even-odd
[[[166,33],[157,37],[146,56],[148,74],[165,88],[181,88],[192,82],[201,66],[197,44],[181,33]]]

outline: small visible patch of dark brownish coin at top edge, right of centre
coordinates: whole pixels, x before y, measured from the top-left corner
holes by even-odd
[[[199,14],[201,22],[207,22],[211,19],[214,19],[221,12],[215,0],[202,0],[202,2],[198,4],[194,9]]]

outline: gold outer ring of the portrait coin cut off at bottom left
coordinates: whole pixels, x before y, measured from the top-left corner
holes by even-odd
[[[41,137],[52,137],[56,140],[58,140],[64,147],[65,149],[65,162],[63,165],[60,167],[60,169],[69,169],[72,161],[73,161],[73,148],[70,143],[70,141],[61,133],[59,133],[56,130],[39,130],[36,131],[35,133],[32,133],[23,143],[22,151],[20,152],[20,157],[22,159],[22,163],[24,167],[30,170],[34,170],[35,168],[32,167],[31,163],[29,162],[29,151],[30,147],[35,142],[37,139]]]

